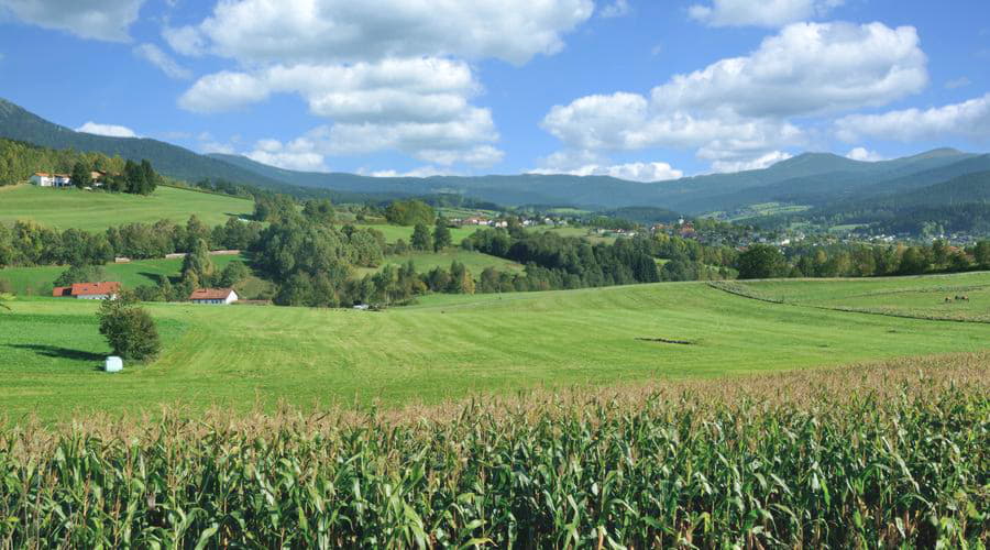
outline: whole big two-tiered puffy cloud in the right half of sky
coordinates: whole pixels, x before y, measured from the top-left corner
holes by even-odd
[[[747,56],[675,75],[649,96],[554,106],[541,125],[566,151],[694,148],[715,169],[748,169],[805,142],[794,118],[887,105],[926,82],[913,28],[798,23]]]

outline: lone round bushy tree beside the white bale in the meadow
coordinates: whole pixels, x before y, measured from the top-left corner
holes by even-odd
[[[158,354],[162,342],[155,321],[138,304],[138,297],[125,292],[117,299],[105,299],[97,317],[100,334],[107,339],[114,355],[145,361]]]

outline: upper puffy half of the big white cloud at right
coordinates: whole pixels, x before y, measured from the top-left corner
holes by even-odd
[[[745,57],[675,75],[657,106],[728,108],[746,117],[793,117],[887,105],[921,91],[927,58],[911,26],[796,23]],[[669,108],[669,107],[668,107]]]

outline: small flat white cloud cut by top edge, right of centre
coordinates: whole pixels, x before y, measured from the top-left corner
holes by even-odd
[[[693,4],[691,19],[711,26],[782,26],[795,21],[820,18],[844,3],[844,0],[713,0],[711,4]]]

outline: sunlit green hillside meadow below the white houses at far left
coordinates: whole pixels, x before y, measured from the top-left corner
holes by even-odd
[[[151,196],[141,197],[22,185],[0,195],[0,222],[33,220],[50,228],[87,231],[163,219],[185,222],[194,213],[204,222],[216,226],[231,216],[250,216],[253,210],[250,200],[174,187],[158,187]]]

